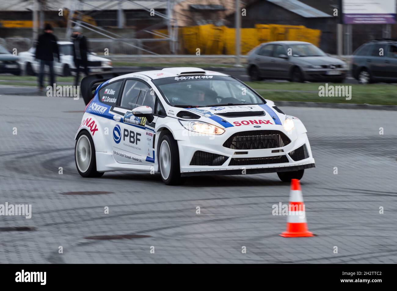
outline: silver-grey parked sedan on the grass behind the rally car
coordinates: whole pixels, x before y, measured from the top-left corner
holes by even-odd
[[[281,79],[292,82],[343,82],[347,64],[330,57],[309,42],[266,42],[248,54],[248,74],[252,81]]]

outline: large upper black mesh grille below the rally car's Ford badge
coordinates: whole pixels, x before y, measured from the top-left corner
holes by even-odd
[[[250,130],[233,134],[223,144],[233,150],[257,150],[261,148],[281,148],[291,140],[279,130]]]

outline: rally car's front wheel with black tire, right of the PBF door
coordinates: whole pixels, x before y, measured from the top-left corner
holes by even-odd
[[[164,146],[164,151],[167,150],[166,146],[168,146],[170,154],[169,157],[162,155],[162,153],[164,154],[164,152],[162,152],[162,146]],[[158,145],[158,163],[161,179],[166,185],[182,185],[185,183],[186,178],[181,177],[181,169],[179,166],[178,144],[175,139],[173,139],[171,133],[165,133],[160,139],[160,143]],[[166,169],[169,169],[169,173],[167,173]]]

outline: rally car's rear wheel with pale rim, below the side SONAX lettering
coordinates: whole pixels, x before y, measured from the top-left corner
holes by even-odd
[[[75,162],[79,174],[85,178],[99,178],[104,173],[96,171],[94,141],[88,131],[81,131],[75,146]]]

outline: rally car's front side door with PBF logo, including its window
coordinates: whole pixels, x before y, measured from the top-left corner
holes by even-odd
[[[112,108],[115,116],[111,121],[110,139],[117,162],[141,165],[154,162],[154,128],[146,126],[146,118],[134,116],[132,111],[139,106],[154,109],[155,100],[156,95],[146,82],[139,79],[125,80],[118,105]]]

